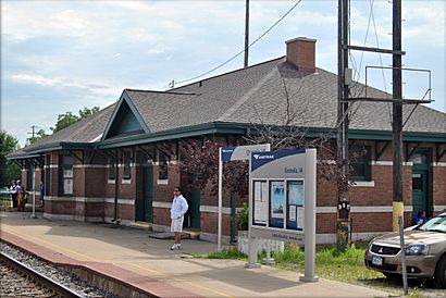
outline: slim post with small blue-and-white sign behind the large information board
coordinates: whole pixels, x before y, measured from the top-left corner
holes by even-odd
[[[219,148],[219,219],[216,251],[222,251],[223,162],[249,160],[251,152],[270,151],[270,144]]]

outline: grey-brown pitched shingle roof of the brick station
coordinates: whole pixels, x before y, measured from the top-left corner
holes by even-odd
[[[351,92],[363,96],[357,84]],[[278,58],[250,67],[225,73],[168,91],[125,89],[151,133],[207,123],[281,125],[287,113],[292,124],[303,127],[333,128],[337,117],[337,76],[317,69],[298,71]],[[391,97],[369,88],[369,97]],[[350,129],[392,132],[392,103],[355,102],[350,110]],[[90,142],[103,133],[115,104],[58,132],[23,152],[58,142]],[[414,105],[404,105],[408,117]],[[446,114],[418,105],[405,132],[446,134]],[[21,151],[22,151],[21,150]]]

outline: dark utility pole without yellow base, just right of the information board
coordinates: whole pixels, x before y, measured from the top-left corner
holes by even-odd
[[[345,247],[348,244],[349,232],[349,198],[348,198],[348,1],[338,0],[338,59],[337,59],[337,163],[342,166],[342,175],[345,177],[343,185],[338,185],[337,197],[337,246]]]

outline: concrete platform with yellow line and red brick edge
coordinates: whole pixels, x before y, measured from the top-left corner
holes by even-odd
[[[1,239],[59,265],[101,275],[115,287],[129,286],[139,297],[388,297],[391,294],[320,278],[299,282],[300,274],[270,266],[245,269],[235,260],[191,258],[216,245],[186,239],[183,251],[153,232],[69,221],[37,213],[0,212]],[[136,297],[136,296],[135,296]]]

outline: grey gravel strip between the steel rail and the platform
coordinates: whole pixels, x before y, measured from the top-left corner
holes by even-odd
[[[4,243],[0,243],[0,249],[3,253],[21,261],[22,263],[28,265],[35,271],[50,277],[51,280],[66,286],[67,288],[85,296],[85,297],[109,297],[109,298],[119,298],[119,296],[111,293],[101,290],[97,287],[90,286],[84,281],[80,281],[76,275],[71,274],[65,270],[60,270],[52,264],[44,262],[37,259],[34,256],[29,256],[21,250],[15,249],[12,246],[9,246]],[[2,278],[2,283],[8,282],[9,280]],[[14,281],[11,281],[14,283]],[[15,283],[16,285],[16,283]],[[3,286],[3,284],[2,284]]]

